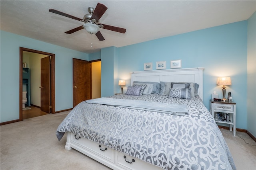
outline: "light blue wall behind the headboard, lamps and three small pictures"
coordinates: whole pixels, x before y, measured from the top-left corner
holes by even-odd
[[[181,59],[182,68],[205,67],[203,102],[209,109],[214,90],[222,98],[217,77],[230,76],[232,86],[226,89],[237,104],[237,128],[246,129],[247,21],[120,47],[118,52],[118,80],[126,80],[124,92],[130,85],[129,72],[144,70],[144,63],[152,62],[156,70],[157,61],[166,61],[170,69],[171,60]]]

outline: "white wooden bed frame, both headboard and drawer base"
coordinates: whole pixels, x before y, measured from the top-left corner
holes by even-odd
[[[203,70],[204,68],[201,67],[132,72],[131,85],[133,81],[196,82],[200,84],[199,96],[203,99]],[[118,150],[99,145],[98,143],[83,137],[77,137],[73,133],[68,132],[65,149],[70,150],[72,148],[112,169],[162,169],[159,166],[134,158],[130,155],[119,152]]]

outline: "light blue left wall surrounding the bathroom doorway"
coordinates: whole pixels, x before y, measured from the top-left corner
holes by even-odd
[[[19,47],[55,54],[55,109],[72,108],[72,58],[88,60],[88,54],[6,31],[0,33],[1,122],[19,119]]]

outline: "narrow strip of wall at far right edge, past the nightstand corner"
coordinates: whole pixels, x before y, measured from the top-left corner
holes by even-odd
[[[256,12],[248,20],[247,130],[256,137]]]

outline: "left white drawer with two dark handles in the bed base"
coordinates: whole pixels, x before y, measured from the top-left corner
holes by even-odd
[[[80,145],[80,147],[92,152],[93,154],[96,154],[114,163],[114,150],[109,147],[100,145],[98,143],[90,141],[89,139],[79,137],[77,135],[74,135],[73,133],[72,133],[71,142],[76,143],[77,145]]]

